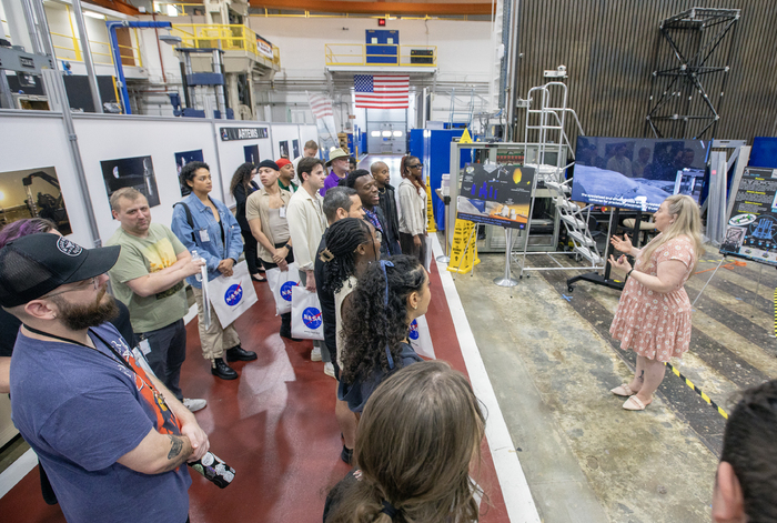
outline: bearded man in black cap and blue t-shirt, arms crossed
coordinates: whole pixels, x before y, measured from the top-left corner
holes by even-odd
[[[0,305],[22,328],[11,360],[14,425],[48,472],[69,522],[184,523],[184,466],[210,444],[113,325],[105,272],[119,247],[54,234],[0,250]]]

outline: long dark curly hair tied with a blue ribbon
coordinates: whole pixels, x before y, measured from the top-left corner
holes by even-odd
[[[359,278],[350,306],[343,310],[342,379],[352,383],[366,380],[383,369],[391,372],[389,348],[395,362],[401,361],[401,342],[407,338],[407,296],[421,293],[426,271],[417,258],[397,254],[389,258],[385,275],[381,263],[372,263]],[[387,280],[387,281],[386,281]]]

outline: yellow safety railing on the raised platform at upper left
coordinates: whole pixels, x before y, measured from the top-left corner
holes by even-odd
[[[281,53],[278,47],[259,37],[248,26],[175,23],[172,33],[181,37],[181,47],[215,48],[224,51],[245,51],[256,59],[263,59],[281,67]],[[258,41],[258,37],[262,39]],[[260,46],[266,44],[266,48]],[[272,54],[272,58],[269,56]]]

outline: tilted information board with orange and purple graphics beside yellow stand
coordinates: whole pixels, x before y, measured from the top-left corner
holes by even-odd
[[[456,218],[524,229],[535,170],[518,164],[470,163],[464,168]]]

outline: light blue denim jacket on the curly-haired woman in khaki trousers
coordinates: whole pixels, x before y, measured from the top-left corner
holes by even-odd
[[[240,224],[226,205],[215,198],[211,198],[211,202],[219,210],[221,223],[224,225],[224,243],[222,243],[219,222],[215,221],[213,212],[196,198],[196,194],[189,194],[182,202],[189,207],[192,213],[194,230],[192,231],[192,228],[189,227],[186,211],[183,209],[183,205],[175,205],[170,229],[173,230],[189,252],[196,251],[205,260],[208,264],[208,281],[214,280],[221,275],[221,272],[216,269],[221,260],[231,258],[238,263],[238,259],[243,252]],[[194,239],[192,239],[192,232],[194,233]],[[206,241],[203,241],[203,239]],[[186,283],[196,289],[202,288],[202,283],[196,281],[194,276],[186,278]]]

